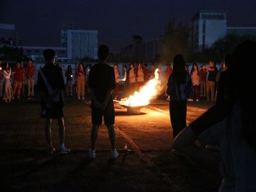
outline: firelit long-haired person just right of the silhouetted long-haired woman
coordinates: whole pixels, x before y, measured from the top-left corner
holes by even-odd
[[[194,101],[199,101],[199,70],[198,70],[198,65],[196,63],[193,63],[192,65],[190,76],[191,76],[191,80],[194,88],[192,99]]]

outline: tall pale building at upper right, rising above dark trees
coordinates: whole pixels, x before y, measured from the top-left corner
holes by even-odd
[[[204,51],[226,33],[226,13],[199,11],[191,22],[191,47],[193,51]]]

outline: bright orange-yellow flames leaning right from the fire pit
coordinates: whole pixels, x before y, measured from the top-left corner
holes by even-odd
[[[159,85],[159,69],[155,71],[155,78],[150,79],[147,84],[145,84],[139,92],[134,92],[128,98],[121,99],[120,104],[126,106],[147,106],[150,99],[157,95],[157,86]]]

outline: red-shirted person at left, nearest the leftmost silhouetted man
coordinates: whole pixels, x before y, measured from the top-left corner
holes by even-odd
[[[28,99],[33,99],[34,83],[35,83],[35,67],[31,59],[28,60],[28,65],[26,67],[26,78],[27,78],[27,84],[28,84]]]

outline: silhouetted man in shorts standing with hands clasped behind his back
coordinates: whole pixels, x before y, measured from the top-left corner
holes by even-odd
[[[89,88],[92,93],[92,148],[89,150],[89,157],[95,158],[95,142],[99,125],[102,124],[102,116],[104,116],[104,124],[108,127],[108,134],[111,143],[111,158],[116,159],[118,153],[115,148],[115,109],[112,98],[112,92],[115,89],[115,72],[113,67],[106,64],[109,49],[106,45],[99,46],[100,62],[93,65],[89,74]]]

